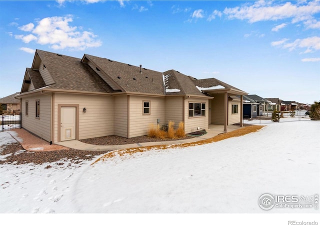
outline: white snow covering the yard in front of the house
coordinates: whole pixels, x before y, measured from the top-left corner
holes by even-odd
[[[2,164],[0,213],[319,213],[258,205],[263,193],[319,194],[319,131],[320,121],[270,123],[240,137],[92,165]],[[0,132],[0,146],[14,141]]]

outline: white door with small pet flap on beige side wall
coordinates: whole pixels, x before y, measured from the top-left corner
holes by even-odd
[[[75,139],[75,109],[76,107],[61,107],[61,141]]]

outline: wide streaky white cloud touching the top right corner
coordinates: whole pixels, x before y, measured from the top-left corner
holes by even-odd
[[[320,1],[306,1],[303,4],[278,1],[256,1],[241,7],[225,8],[223,11],[230,19],[247,19],[250,23],[265,20],[292,18],[292,22],[310,19],[320,12]]]

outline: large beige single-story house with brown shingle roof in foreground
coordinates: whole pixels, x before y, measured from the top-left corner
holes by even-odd
[[[208,124],[242,125],[246,92],[215,78],[158,72],[84,54],[36,50],[26,68],[21,124],[49,142],[105,135],[146,135],[149,125],[184,122],[185,132]],[[232,98],[240,95],[240,99]]]

